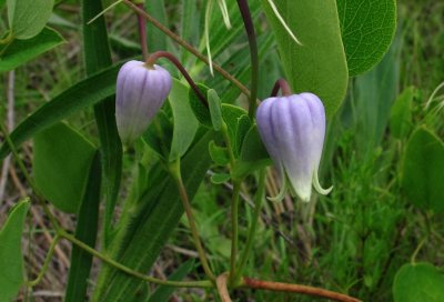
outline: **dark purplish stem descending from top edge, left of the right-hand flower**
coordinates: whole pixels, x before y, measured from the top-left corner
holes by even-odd
[[[250,58],[251,58],[251,93],[250,93],[250,108],[249,117],[254,118],[256,109],[256,95],[258,95],[258,83],[259,83],[259,54],[258,54],[258,42],[254,32],[254,24],[251,18],[250,8],[248,0],[238,0],[239,10],[243,19],[243,23],[246,31],[250,46]]]

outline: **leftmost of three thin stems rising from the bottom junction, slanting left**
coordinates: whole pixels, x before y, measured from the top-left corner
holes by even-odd
[[[194,245],[198,251],[199,259],[202,263],[203,270],[205,271],[206,276],[211,281],[214,281],[215,276],[214,276],[213,272],[211,271],[210,264],[206,260],[205,251],[203,250],[202,242],[199,238],[199,232],[198,232],[198,228],[195,226],[193,212],[192,212],[190,200],[189,200],[188,193],[186,193],[186,188],[182,181],[182,175],[181,175],[181,170],[180,170],[180,160],[176,160],[173,163],[171,163],[170,172],[178,184],[179,194],[180,194],[180,198],[182,201],[183,209],[185,210],[188,222],[190,224],[191,234],[193,236]]]

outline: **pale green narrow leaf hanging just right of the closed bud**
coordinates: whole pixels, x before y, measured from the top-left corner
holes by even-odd
[[[171,142],[170,162],[180,159],[193,142],[199,122],[193,114],[188,100],[188,89],[184,84],[173,79],[173,85],[169,95],[173,111],[174,128]]]

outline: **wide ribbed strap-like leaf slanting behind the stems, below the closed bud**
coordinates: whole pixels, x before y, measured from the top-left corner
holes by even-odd
[[[190,200],[210,168],[208,144],[211,140],[214,140],[214,132],[206,131],[181,161],[182,178]],[[122,218],[119,233],[109,251],[110,256],[140,272],[147,272],[151,268],[183,214],[175,181],[161,165],[150,177],[147,192]],[[142,282],[110,266],[103,266],[92,301],[127,301],[135,294]]]

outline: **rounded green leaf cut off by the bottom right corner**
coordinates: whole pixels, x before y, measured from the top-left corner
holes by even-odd
[[[444,273],[430,263],[405,264],[393,283],[395,302],[444,301]]]

